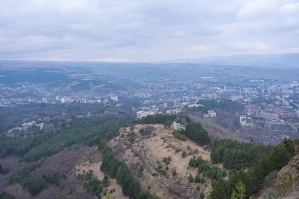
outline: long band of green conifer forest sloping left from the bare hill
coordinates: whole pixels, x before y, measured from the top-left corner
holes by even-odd
[[[67,146],[68,136],[72,143],[84,142],[89,146],[101,139],[111,139],[122,125],[132,120],[122,116],[91,117],[74,119],[70,127],[59,131],[49,131],[31,138],[0,138],[0,157],[16,154],[21,162],[34,162],[44,156],[51,156]],[[117,125],[116,125],[117,122]]]

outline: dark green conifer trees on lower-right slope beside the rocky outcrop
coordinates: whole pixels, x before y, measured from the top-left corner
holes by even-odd
[[[212,145],[212,162],[222,163],[224,168],[231,171],[228,180],[212,181],[210,199],[231,199],[233,190],[243,186],[243,194],[246,195],[244,199],[249,199],[262,189],[265,179],[273,179],[268,175],[271,176],[272,172],[288,164],[295,155],[296,142],[285,139],[278,146],[264,146],[234,140],[215,140]]]

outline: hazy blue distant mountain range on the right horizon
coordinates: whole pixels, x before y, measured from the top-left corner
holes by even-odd
[[[174,59],[154,62],[162,63],[193,63],[193,64],[216,64],[216,65],[298,65],[299,53],[291,54],[270,54],[270,55],[233,55],[233,56],[212,56],[198,59]]]

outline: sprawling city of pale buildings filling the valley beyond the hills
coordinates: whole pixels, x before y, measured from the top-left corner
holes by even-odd
[[[230,99],[244,109],[240,115],[242,127],[255,126],[255,120],[265,120],[265,128],[274,131],[296,131],[299,124],[299,83],[277,80],[247,80],[223,83],[198,80],[117,79],[113,82],[123,88],[72,91],[67,84],[0,84],[0,106],[36,103],[109,103],[121,106],[123,99],[138,98],[134,104],[137,118],[154,114],[178,114],[188,108],[204,106],[198,100]],[[107,79],[109,81],[109,79]],[[139,105],[136,105],[139,104]],[[202,115],[215,118],[211,109]],[[32,123],[32,122],[31,122]],[[32,124],[31,124],[32,125]],[[292,125],[292,126],[291,126]],[[24,124],[26,129],[29,124]]]

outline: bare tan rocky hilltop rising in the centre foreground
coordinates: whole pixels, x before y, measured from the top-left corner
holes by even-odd
[[[142,128],[145,129],[143,134],[140,133]],[[127,164],[142,187],[150,189],[161,199],[198,199],[201,192],[207,196],[211,191],[211,180],[208,178],[203,184],[188,181],[190,173],[193,176],[197,174],[197,169],[189,168],[190,158],[200,156],[210,162],[209,154],[195,150],[196,143],[189,139],[179,141],[172,136],[171,129],[161,124],[122,128],[120,136],[111,140],[109,145],[116,157]],[[187,153],[185,158],[181,156],[183,150]],[[163,162],[164,157],[171,157],[168,165]],[[173,171],[176,172],[175,176]]]

